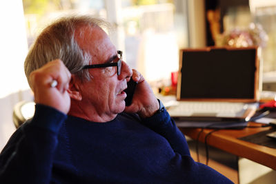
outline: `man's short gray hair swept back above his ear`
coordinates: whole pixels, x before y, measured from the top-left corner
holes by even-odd
[[[76,40],[83,37],[81,28],[85,27],[111,28],[108,22],[90,16],[62,17],[48,25],[34,41],[26,57],[24,70],[27,79],[32,71],[49,61],[61,59],[72,74],[89,80],[88,70],[81,68],[90,63],[92,56],[80,48]],[[78,33],[77,29],[80,29]]]

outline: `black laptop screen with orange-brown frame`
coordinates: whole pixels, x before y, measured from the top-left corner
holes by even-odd
[[[256,48],[181,50],[180,54],[180,99],[256,98]]]

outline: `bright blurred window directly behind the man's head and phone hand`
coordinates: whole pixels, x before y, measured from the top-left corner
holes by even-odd
[[[131,68],[148,81],[170,79],[179,48],[188,47],[186,1],[23,0],[28,45],[62,14],[92,14],[115,26],[110,38]]]

